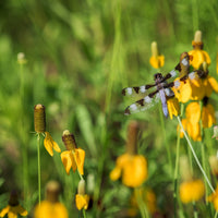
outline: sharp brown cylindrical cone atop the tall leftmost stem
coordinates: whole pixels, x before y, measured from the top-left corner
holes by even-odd
[[[37,133],[46,132],[46,108],[40,104],[34,107],[34,125]]]

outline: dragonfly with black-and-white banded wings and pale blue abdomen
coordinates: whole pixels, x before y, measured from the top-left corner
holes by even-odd
[[[142,86],[126,87],[122,89],[122,95],[124,96],[145,96],[142,99],[128,106],[124,111],[125,116],[145,111],[155,106],[159,100],[161,100],[162,112],[165,117],[168,118],[169,111],[167,107],[167,100],[174,97],[174,93],[171,88],[178,88],[181,82],[185,83],[187,78],[193,80],[196,77],[195,72],[190,73],[189,71],[191,57],[187,52],[184,52],[182,55],[179,64],[172,71],[170,71],[166,75],[162,75],[161,73],[156,73],[154,75],[155,83]],[[178,75],[177,71],[180,72],[180,78],[168,83],[169,78],[173,78]]]

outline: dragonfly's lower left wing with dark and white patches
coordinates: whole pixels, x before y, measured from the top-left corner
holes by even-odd
[[[134,104],[130,105],[125,111],[124,114],[129,116],[132,113],[136,113],[136,112],[141,112],[144,110],[147,110],[149,108],[152,108],[154,105],[156,105],[156,101],[158,100],[158,96],[154,96],[154,97],[149,97],[149,96],[145,96],[144,98],[135,101]]]

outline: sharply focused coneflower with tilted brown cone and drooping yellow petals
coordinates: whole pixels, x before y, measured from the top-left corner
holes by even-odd
[[[74,172],[77,169],[81,174],[84,174],[85,152],[77,148],[74,135],[69,130],[63,131],[62,141],[68,149],[61,153],[61,160],[66,173],[69,174],[72,168]]]

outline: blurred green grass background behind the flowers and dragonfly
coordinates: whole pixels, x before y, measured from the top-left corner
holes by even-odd
[[[37,203],[33,109],[43,104],[47,130],[61,149],[65,149],[62,132],[69,129],[86,150],[85,178],[95,181],[89,190],[95,199],[90,217],[114,217],[128,207],[130,190],[111,182],[109,172],[125,150],[131,119],[141,121],[140,153],[149,162],[146,183],[156,190],[158,204],[168,214],[165,198],[172,197],[172,180],[159,112],[124,117],[124,108],[133,100],[126,102],[121,89],[153,81],[157,71],[149,65],[152,41],[165,55],[161,72],[167,73],[181,52],[192,50],[197,29],[211,58],[210,75],[217,77],[217,11],[216,0],[1,0],[0,205],[7,205],[12,189],[20,190],[28,210]],[[25,53],[26,64],[17,63],[19,52]],[[168,119],[165,125],[174,162],[177,122]],[[59,154],[51,158],[41,142],[43,189],[49,180],[60,181],[61,201],[69,211],[76,211],[78,177],[72,172],[68,177]]]

